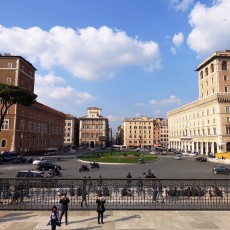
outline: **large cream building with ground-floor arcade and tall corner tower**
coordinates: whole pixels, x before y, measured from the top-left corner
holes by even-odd
[[[230,51],[215,52],[196,71],[198,100],[167,113],[169,146],[201,154],[230,151]]]

